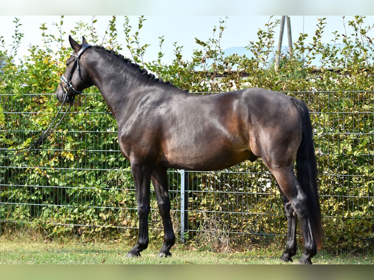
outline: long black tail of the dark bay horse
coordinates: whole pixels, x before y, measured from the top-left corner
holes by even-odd
[[[296,156],[297,180],[307,195],[308,217],[317,249],[320,249],[322,247],[321,209],[316,180],[317,163],[314,154],[312,123],[305,102],[295,98],[291,100],[299,110],[303,122],[303,136]]]

